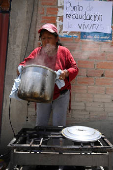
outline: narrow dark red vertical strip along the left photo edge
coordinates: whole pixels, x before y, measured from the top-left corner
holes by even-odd
[[[0,13],[0,127],[4,92],[4,76],[7,53],[9,13]],[[0,128],[1,129],[1,128]]]

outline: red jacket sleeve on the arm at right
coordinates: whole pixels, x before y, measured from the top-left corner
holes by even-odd
[[[72,54],[70,53],[70,51],[68,49],[66,52],[66,66],[67,66],[67,70],[69,72],[69,81],[71,82],[77,76],[79,69],[77,67],[77,64],[76,64]]]

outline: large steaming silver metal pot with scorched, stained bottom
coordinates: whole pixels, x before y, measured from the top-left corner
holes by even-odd
[[[23,67],[18,97],[32,102],[49,103],[52,101],[56,73],[41,65]]]

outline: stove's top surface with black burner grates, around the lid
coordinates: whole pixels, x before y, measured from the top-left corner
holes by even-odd
[[[9,147],[32,152],[106,152],[112,144],[104,135],[95,142],[76,142],[61,133],[65,127],[23,128],[9,143]]]

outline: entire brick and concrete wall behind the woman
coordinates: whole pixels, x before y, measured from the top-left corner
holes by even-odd
[[[31,23],[32,9],[33,19]],[[2,118],[1,152],[6,149],[13,133],[8,118],[9,93],[16,77],[18,64],[39,45],[37,30],[41,25],[54,23],[62,35],[63,0],[12,1],[9,44],[5,77]],[[71,112],[67,114],[67,126],[84,125],[96,128],[113,143],[113,41],[94,42],[75,37],[61,37],[79,67],[79,75],[72,81]],[[29,38],[28,38],[29,37]],[[28,42],[29,40],[29,42]],[[26,50],[28,42],[28,48]],[[35,106],[28,109],[27,102],[12,99],[11,121],[15,133],[22,127],[35,126]],[[50,121],[51,123],[51,121]]]

